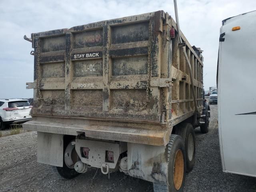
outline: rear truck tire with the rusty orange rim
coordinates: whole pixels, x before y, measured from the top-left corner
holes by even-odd
[[[185,182],[186,154],[182,138],[171,134],[168,143],[168,184],[153,183],[154,192],[182,192]]]

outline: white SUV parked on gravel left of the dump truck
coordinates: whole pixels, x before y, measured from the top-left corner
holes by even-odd
[[[31,120],[31,108],[25,99],[0,99],[0,130],[9,124]]]

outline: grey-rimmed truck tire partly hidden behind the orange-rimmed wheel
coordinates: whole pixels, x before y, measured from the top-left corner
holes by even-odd
[[[196,137],[192,124],[182,123],[177,126],[175,134],[182,137],[186,151],[186,172],[190,172],[195,164]]]

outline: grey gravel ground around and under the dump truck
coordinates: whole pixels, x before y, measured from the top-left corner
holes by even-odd
[[[211,105],[210,131],[196,128],[196,164],[186,174],[184,192],[256,192],[256,178],[222,172],[217,105]],[[64,180],[52,166],[36,162],[36,132],[0,138],[0,192],[153,192],[152,184],[120,172],[108,176],[89,170]]]

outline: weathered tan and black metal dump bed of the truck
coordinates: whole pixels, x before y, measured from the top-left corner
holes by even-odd
[[[24,127],[41,132],[56,132],[51,127],[60,127],[68,132],[79,124],[84,128],[76,132],[94,127],[105,130],[105,135],[106,126],[116,127],[116,135],[129,127],[138,135],[152,130],[144,136],[160,135],[157,145],[166,144],[164,138],[168,140],[172,126],[194,114],[188,67],[177,33],[170,36],[171,28],[176,30],[174,20],[158,11],[33,33],[34,82],[27,83],[27,88],[34,88],[34,120]],[[200,114],[202,55],[183,34],[182,40],[186,42]],[[48,128],[40,126],[46,122],[51,122]],[[63,122],[70,128],[64,129]],[[113,133],[111,130],[108,134]],[[129,132],[116,139],[128,141]],[[95,132],[97,137],[104,136]]]

